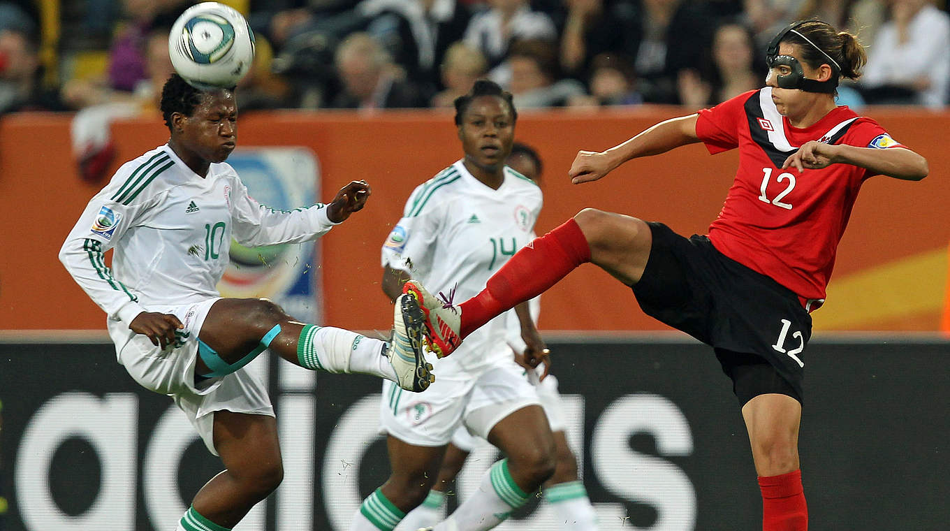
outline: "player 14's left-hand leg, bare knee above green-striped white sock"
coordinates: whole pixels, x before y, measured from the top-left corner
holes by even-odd
[[[391,531],[406,513],[426,500],[435,483],[446,446],[409,445],[387,438],[392,474],[360,505],[350,531]]]

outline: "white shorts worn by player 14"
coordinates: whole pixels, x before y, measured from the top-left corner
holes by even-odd
[[[421,393],[383,382],[380,431],[415,446],[443,446],[458,427],[482,438],[504,417],[539,406],[538,393],[524,370],[508,359],[473,377],[465,372],[438,374]]]

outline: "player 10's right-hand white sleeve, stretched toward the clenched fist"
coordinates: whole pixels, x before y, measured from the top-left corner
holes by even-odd
[[[323,203],[290,211],[261,204],[237,178],[231,203],[234,237],[237,243],[248,247],[308,241],[327,234],[337,224],[327,218],[327,205]]]

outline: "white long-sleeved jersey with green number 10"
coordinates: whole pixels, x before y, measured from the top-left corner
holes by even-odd
[[[108,317],[218,294],[234,237],[249,247],[299,243],[333,226],[317,203],[276,211],[248,196],[230,164],[201,178],[162,145],[128,161],[85,207],[60,250],[66,270]],[[112,269],[104,253],[115,248]]]

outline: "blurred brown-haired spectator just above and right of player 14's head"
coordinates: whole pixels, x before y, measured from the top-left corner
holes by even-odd
[[[516,108],[562,106],[585,93],[577,80],[556,81],[558,56],[554,46],[546,41],[514,43],[508,64],[511,67],[508,90],[514,96]]]

